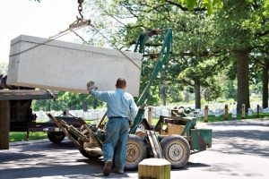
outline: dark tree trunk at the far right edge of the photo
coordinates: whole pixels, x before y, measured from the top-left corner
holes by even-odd
[[[268,70],[269,63],[265,63],[263,68],[263,108],[268,107]]]

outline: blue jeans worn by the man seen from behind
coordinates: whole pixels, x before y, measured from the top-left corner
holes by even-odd
[[[126,164],[126,144],[128,141],[128,118],[109,118],[106,128],[106,138],[102,150],[104,160],[115,161],[117,169],[124,169]]]

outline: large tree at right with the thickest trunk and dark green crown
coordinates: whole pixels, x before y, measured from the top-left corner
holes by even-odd
[[[268,47],[268,2],[225,1],[223,10],[216,14],[218,44],[237,56],[238,111],[242,104],[249,104],[249,55],[258,48]]]

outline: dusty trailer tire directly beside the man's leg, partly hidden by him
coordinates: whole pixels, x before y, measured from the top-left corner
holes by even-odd
[[[133,153],[130,153],[133,152]],[[130,157],[132,155],[133,157]],[[146,145],[142,138],[129,134],[126,145],[126,170],[136,170],[138,164],[147,156]],[[132,162],[131,162],[132,161]]]

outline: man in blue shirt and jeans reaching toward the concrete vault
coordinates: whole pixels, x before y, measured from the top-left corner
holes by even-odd
[[[124,174],[129,124],[133,124],[137,112],[134,98],[125,91],[126,80],[123,78],[117,79],[117,90],[115,91],[97,91],[93,81],[88,82],[87,87],[94,98],[100,99],[108,105],[106,138],[102,145],[105,160],[103,174],[109,175],[111,173],[114,150],[114,172]]]

